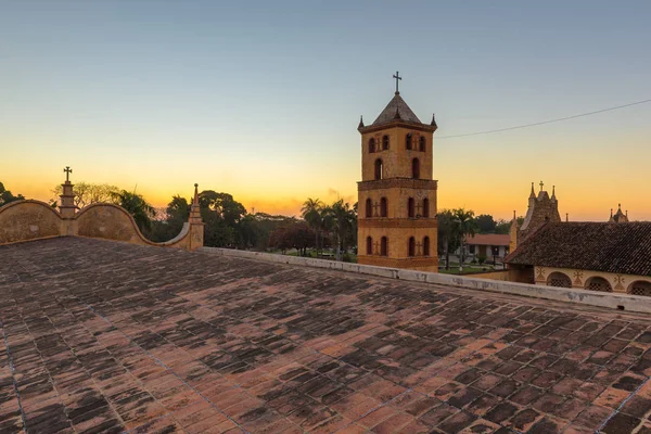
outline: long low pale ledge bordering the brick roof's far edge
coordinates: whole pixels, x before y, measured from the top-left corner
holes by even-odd
[[[350,271],[360,275],[378,276],[390,279],[400,279],[413,282],[432,283],[436,285],[464,288],[471,290],[497,292],[502,294],[521,295],[557,302],[574,303],[587,306],[624,309],[635,312],[651,314],[651,297],[640,295],[601,293],[580,289],[564,289],[541,286],[528,283],[505,282],[498,280],[477,279],[454,275],[442,275],[427,271],[414,271],[400,268],[378,267],[334,260],[304,258],[296,256],[276,255],[261,252],[237,251],[230,248],[202,247],[200,252],[220,256],[232,256],[246,259],[265,260],[306,267],[326,268],[331,270]]]

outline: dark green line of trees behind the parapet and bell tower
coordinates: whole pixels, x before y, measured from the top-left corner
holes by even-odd
[[[58,206],[61,186],[52,190],[51,206]],[[24,200],[14,195],[0,182],[0,206]],[[167,206],[155,208],[141,194],[110,184],[78,182],[75,184],[75,205],[88,206],[104,202],[124,207],[133,216],[140,231],[154,242],[176,237],[190,215],[191,199],[171,197]],[[346,260],[357,254],[357,203],[344,200],[326,204],[308,197],[301,215],[283,216],[248,213],[231,194],[204,190],[199,194],[200,210],[205,222],[204,244],[215,247],[269,251],[286,253],[295,250],[299,255],[334,256]],[[438,218],[438,255],[445,259],[454,254],[468,237],[475,233],[509,233],[510,221],[495,220],[493,216],[464,208],[442,209]],[[523,217],[519,217],[522,222]],[[463,252],[463,250],[462,250]]]

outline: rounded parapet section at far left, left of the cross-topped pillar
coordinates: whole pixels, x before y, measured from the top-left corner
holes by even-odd
[[[44,202],[16,201],[0,207],[0,244],[60,237],[62,218]]]

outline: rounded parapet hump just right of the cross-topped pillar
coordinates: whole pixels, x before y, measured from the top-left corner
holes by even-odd
[[[133,217],[122,206],[95,203],[76,216],[77,235],[126,241],[132,244],[155,245],[144,238]]]

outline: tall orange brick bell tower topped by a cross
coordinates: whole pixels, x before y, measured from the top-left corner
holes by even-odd
[[[432,175],[436,122],[423,124],[398,90],[369,126],[360,119],[358,263],[438,271],[436,184]]]

